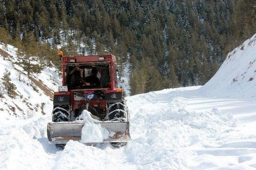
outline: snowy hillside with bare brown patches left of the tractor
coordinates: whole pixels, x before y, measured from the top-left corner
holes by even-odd
[[[60,77],[55,68],[45,68],[40,74],[32,74],[29,78],[26,72],[18,65],[16,48],[11,45],[0,44],[0,75],[5,69],[10,71],[11,82],[17,87],[15,98],[10,98],[4,90],[2,80],[0,87],[2,96],[0,98],[0,113],[4,117],[12,118],[10,115],[20,118],[30,118],[35,114],[46,114],[51,112],[54,90],[60,84]],[[20,76],[20,78],[19,78]],[[20,79],[20,80],[19,80]],[[48,109],[50,108],[50,109]]]

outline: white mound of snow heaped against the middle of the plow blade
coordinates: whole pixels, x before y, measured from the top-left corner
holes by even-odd
[[[109,131],[101,127],[95,119],[92,119],[90,112],[87,110],[83,111],[84,127],[82,128],[82,136],[80,142],[82,143],[98,143],[104,139],[108,139]]]

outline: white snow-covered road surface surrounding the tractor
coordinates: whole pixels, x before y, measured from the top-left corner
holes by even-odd
[[[125,147],[64,150],[48,143],[50,113],[0,120],[0,169],[254,169],[256,102],[200,96],[199,87],[127,98],[132,141]]]

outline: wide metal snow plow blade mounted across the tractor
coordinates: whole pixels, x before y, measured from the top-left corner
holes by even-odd
[[[100,122],[115,135],[104,139],[102,142],[128,142],[130,141],[129,122]],[[66,144],[69,140],[80,141],[84,123],[76,122],[51,122],[47,124],[48,141],[53,144]]]

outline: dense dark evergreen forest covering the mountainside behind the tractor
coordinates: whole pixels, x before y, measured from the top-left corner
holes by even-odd
[[[0,0],[0,41],[29,72],[58,67],[58,49],[112,53],[132,95],[205,84],[255,32],[254,0]]]

